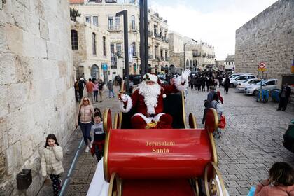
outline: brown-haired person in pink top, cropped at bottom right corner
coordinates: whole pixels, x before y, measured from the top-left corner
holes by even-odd
[[[269,178],[256,187],[255,196],[293,196],[294,169],[286,162],[276,162],[269,169]]]

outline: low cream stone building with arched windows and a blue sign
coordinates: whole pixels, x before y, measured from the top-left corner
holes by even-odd
[[[108,31],[102,31],[89,22],[71,22],[71,48],[76,77],[113,80],[117,74],[122,76],[123,67],[118,69],[117,59],[111,58],[110,46]]]

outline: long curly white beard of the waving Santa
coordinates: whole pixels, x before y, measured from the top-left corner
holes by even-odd
[[[144,96],[144,102],[147,106],[148,114],[155,114],[155,108],[158,106],[158,96],[160,95],[161,86],[158,83],[147,85],[143,81],[138,86],[139,94]]]

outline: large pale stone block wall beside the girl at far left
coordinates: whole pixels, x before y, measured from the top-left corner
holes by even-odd
[[[76,113],[68,1],[0,1],[0,195],[43,185],[40,153],[48,134],[64,147]]]

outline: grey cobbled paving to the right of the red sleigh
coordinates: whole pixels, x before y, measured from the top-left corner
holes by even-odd
[[[294,108],[276,111],[278,103],[256,102],[235,89],[229,94],[220,90],[224,99],[227,126],[221,139],[215,139],[219,164],[230,195],[247,195],[251,186],[267,179],[274,162],[294,165],[294,153],[283,147],[283,134],[294,118]],[[207,92],[189,91],[186,112],[194,113],[197,125],[203,127],[202,116]]]

